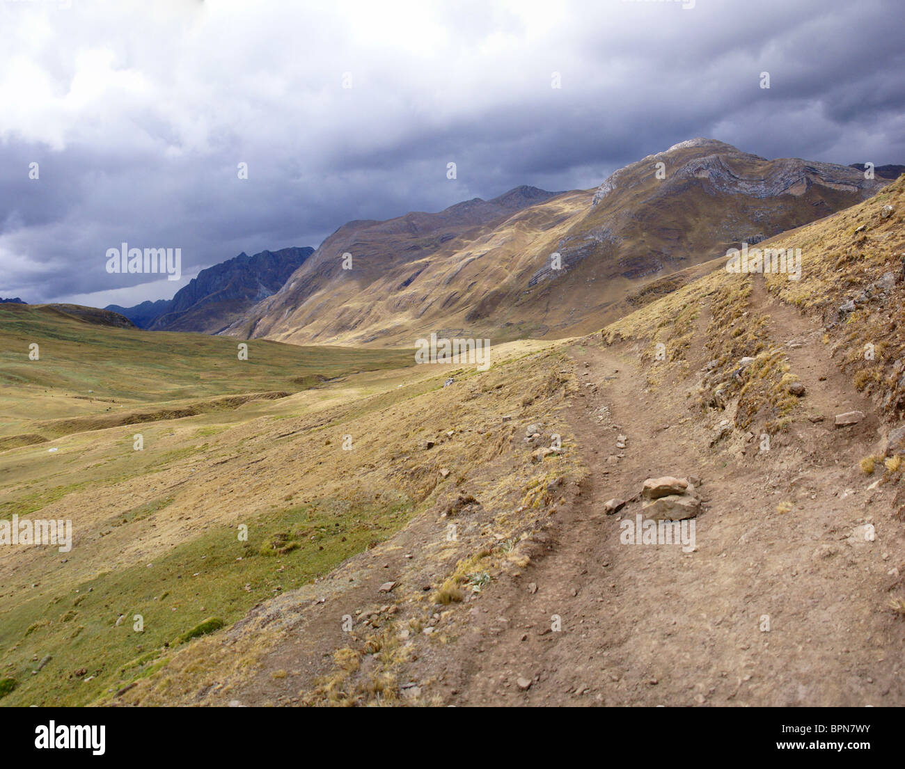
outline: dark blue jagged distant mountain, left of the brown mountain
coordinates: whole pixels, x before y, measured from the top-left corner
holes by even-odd
[[[279,290],[313,252],[312,248],[294,246],[254,256],[243,252],[200,271],[187,286],[176,291],[173,299],[145,301],[131,308],[110,305],[106,309],[152,331],[216,334]]]

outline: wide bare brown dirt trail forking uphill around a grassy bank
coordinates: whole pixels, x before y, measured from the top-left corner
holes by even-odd
[[[581,378],[597,385],[573,412],[591,479],[551,528],[546,557],[512,591],[491,591],[472,609],[490,618],[489,630],[468,655],[470,675],[453,701],[905,703],[905,623],[886,607],[900,582],[894,567],[905,571],[901,526],[892,492],[866,490],[856,464],[870,452],[875,423],[833,426],[834,413],[870,414],[870,404],[837,370],[820,328],[774,304],[762,285],[752,304],[771,315],[775,342],[802,343],[787,349],[808,391],[792,429],[760,456],[757,441],[734,457],[710,448],[708,432],[689,418],[688,383],[644,394],[631,351],[576,349],[578,374],[588,371]],[[603,406],[610,416],[598,422]],[[611,464],[620,433],[624,458]],[[640,503],[604,514],[606,499],[630,497],[645,478],[664,474],[703,480],[692,553],[620,544],[617,519],[633,519]],[[792,510],[777,512],[780,501]],[[865,522],[876,528],[873,541],[856,530]],[[550,631],[554,614],[561,631]],[[532,680],[527,691],[519,677]]]

